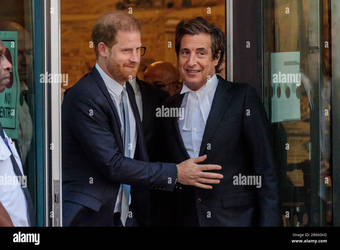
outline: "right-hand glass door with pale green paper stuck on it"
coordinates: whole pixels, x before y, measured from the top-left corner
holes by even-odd
[[[333,226],[329,3],[263,1],[264,102],[287,227]]]

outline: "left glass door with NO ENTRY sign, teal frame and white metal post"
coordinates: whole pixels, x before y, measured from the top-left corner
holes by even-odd
[[[61,226],[59,10],[58,0],[7,0],[0,9],[0,38],[13,65],[0,122],[19,153],[38,226]]]

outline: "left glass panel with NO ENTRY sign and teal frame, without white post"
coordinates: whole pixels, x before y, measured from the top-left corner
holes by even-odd
[[[11,82],[0,93],[0,121],[20,156],[38,226],[44,224],[41,16],[41,1],[7,0],[0,9],[0,38],[13,66]]]

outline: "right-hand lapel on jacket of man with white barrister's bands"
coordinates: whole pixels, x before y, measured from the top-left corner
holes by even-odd
[[[232,99],[232,95],[227,91],[229,88],[231,88],[232,85],[219,75],[217,75],[217,77],[219,81],[216,87],[214,99],[211,103],[211,109],[207,119],[207,123],[205,124],[199,156],[204,155],[207,149],[207,144],[211,143],[211,138],[214,135],[215,130],[220,123],[220,120],[230,100]]]

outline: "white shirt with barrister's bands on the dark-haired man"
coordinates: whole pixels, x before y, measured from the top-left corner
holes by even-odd
[[[216,74],[197,91],[188,88],[185,82],[183,84],[181,94],[185,93],[185,95],[181,108],[184,108],[185,116],[182,120],[178,118],[177,122],[190,158],[199,156],[205,124],[217,84]]]

